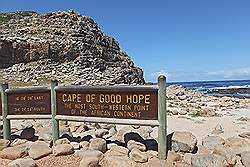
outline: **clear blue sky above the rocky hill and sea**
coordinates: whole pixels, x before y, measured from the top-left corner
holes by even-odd
[[[249,0],[1,0],[0,11],[73,9],[92,17],[147,81],[250,78]]]

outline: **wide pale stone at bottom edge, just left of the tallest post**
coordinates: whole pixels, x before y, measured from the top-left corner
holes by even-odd
[[[136,167],[136,163],[127,158],[120,156],[107,156],[99,162],[101,167]]]

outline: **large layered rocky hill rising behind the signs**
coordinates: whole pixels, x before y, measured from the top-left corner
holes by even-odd
[[[4,79],[39,84],[52,76],[83,85],[144,83],[143,71],[90,17],[73,11],[0,16],[5,18],[0,24]]]

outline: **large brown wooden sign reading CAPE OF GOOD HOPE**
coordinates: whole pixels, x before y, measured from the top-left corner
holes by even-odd
[[[58,87],[56,92],[58,115],[158,119],[158,89],[153,87]]]

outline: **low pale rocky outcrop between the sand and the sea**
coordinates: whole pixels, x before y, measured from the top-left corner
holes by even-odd
[[[208,96],[181,85],[167,87],[167,109],[172,115],[212,117],[221,116],[221,111],[243,108],[250,108],[249,98]]]

